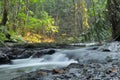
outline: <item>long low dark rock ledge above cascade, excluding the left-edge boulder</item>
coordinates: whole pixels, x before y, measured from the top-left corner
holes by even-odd
[[[53,49],[21,49],[12,48],[7,51],[3,51],[9,59],[24,59],[24,58],[40,58],[43,55],[52,55],[55,53]]]

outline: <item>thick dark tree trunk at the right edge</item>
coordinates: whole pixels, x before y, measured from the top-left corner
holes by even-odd
[[[108,17],[112,25],[113,40],[120,41],[120,1],[108,0]]]

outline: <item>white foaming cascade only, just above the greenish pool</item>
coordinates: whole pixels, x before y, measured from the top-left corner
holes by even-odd
[[[16,59],[12,60],[11,65],[1,65],[0,68],[14,69],[23,67],[34,67],[34,66],[44,66],[44,65],[61,65],[67,66],[70,63],[77,63],[74,59],[69,59],[66,54],[55,53],[52,55],[44,55],[41,58],[27,58],[27,59]]]

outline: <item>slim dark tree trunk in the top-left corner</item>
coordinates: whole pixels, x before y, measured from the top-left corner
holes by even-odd
[[[7,15],[8,15],[8,0],[3,0],[4,2],[4,11],[3,11],[3,17],[0,25],[5,26],[6,22],[8,20]]]

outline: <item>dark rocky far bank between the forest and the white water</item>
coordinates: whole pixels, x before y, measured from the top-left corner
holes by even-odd
[[[97,44],[6,43],[4,46],[0,46],[0,64],[12,64],[11,60],[14,59],[40,58],[44,55],[52,55],[56,52],[56,49],[79,49],[93,45]],[[97,49],[97,47],[94,49]]]

